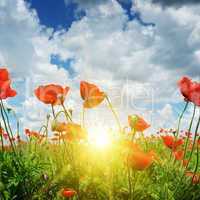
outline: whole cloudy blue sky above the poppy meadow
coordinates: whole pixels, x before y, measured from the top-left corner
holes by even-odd
[[[111,94],[124,122],[138,113],[157,127],[173,124],[183,107],[177,80],[200,75],[200,5],[156,2],[0,1],[0,65],[14,79],[19,95],[10,103],[22,123],[39,126],[48,111],[35,87],[69,85],[66,104],[79,109],[84,79]]]

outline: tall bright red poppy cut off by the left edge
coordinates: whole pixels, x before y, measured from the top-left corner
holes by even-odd
[[[7,69],[0,69],[0,98],[7,99],[16,96],[17,92],[10,87],[11,80]]]

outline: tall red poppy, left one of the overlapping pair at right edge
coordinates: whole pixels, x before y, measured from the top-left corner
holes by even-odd
[[[180,92],[184,96],[184,98],[187,101],[190,101],[192,80],[190,78],[184,76],[178,81],[178,86],[179,86]]]

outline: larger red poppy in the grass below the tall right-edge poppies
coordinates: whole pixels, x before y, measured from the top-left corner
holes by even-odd
[[[165,135],[162,136],[163,142],[164,144],[170,148],[170,149],[177,149],[179,146],[181,146],[184,141],[183,139],[176,139],[174,136],[170,136],[170,135]]]

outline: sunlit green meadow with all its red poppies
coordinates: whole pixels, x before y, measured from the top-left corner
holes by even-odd
[[[17,95],[11,84],[8,70],[1,68],[0,199],[200,199],[200,116],[194,120],[200,108],[199,82],[188,77],[178,81],[185,106],[177,127],[148,136],[145,131],[151,125],[142,116],[130,113],[129,126],[121,124],[109,94],[87,81],[80,82],[81,122],[74,121],[73,111],[65,106],[70,88],[49,84],[34,91],[52,110],[44,116],[44,125],[40,130],[14,130],[10,119],[16,114],[6,106]],[[89,135],[85,115],[103,102],[113,114],[116,130]],[[191,107],[188,129],[182,130],[182,118]],[[17,116],[15,123],[19,127]]]

